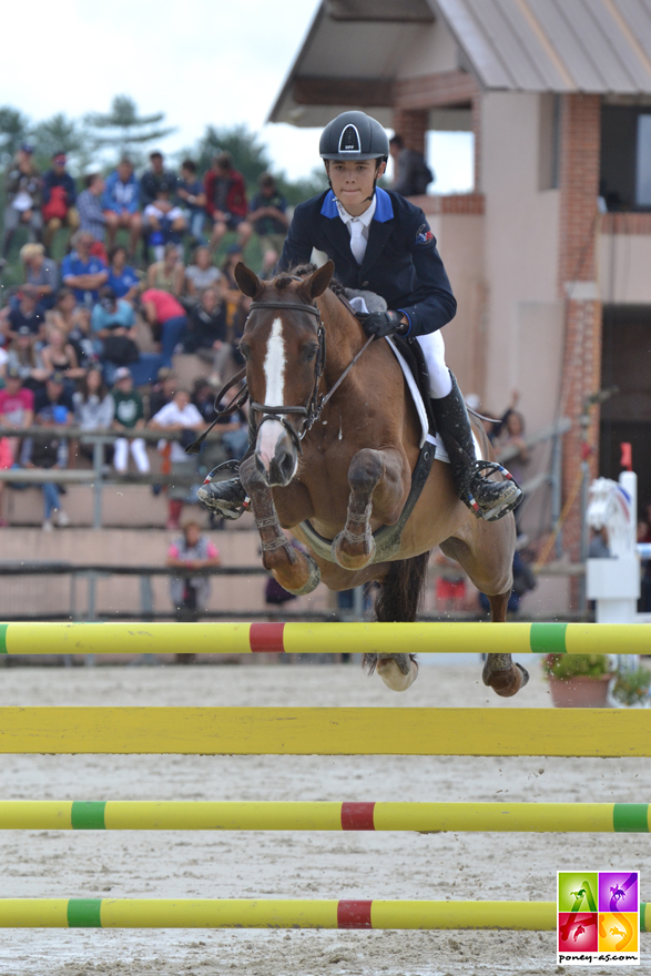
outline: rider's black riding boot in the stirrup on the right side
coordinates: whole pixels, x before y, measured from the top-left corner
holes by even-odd
[[[512,511],[522,500],[522,491],[510,475],[503,481],[491,481],[482,471],[501,470],[492,461],[478,461],[466,403],[455,375],[452,388],[431,406],[437,430],[450,459],[455,487],[461,501],[477,517],[492,522]],[[508,474],[508,472],[507,472]]]

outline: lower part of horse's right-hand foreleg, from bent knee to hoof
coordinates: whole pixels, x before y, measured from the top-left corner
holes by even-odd
[[[382,455],[377,450],[357,451],[348,469],[350,497],[346,525],[333,539],[332,553],[342,569],[364,569],[375,556],[375,539],[370,531],[373,492],[384,475]]]

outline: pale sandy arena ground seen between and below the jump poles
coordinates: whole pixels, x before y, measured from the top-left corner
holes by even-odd
[[[529,659],[530,661],[531,659]],[[549,704],[533,665],[512,705]],[[2,705],[509,708],[445,658],[404,695],[358,664],[6,668]],[[648,802],[643,759],[0,756],[3,799]],[[645,834],[4,832],[1,897],[552,901],[558,868],[651,865]],[[651,973],[651,937],[642,936]],[[647,962],[644,962],[647,957]],[[0,976],[541,976],[553,933],[0,932]],[[604,968],[593,972],[610,972]]]

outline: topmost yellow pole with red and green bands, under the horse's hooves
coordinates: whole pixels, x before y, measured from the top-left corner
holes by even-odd
[[[2,623],[2,654],[645,654],[644,623]]]

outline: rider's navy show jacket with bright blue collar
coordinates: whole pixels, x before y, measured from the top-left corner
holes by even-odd
[[[420,207],[379,186],[375,192],[362,265],[353,256],[350,234],[328,190],[294,211],[276,271],[306,264],[316,247],[334,261],[335,275],[346,288],[375,292],[390,309],[403,312],[410,323],[409,336],[436,332],[457,311],[436,238]]]

